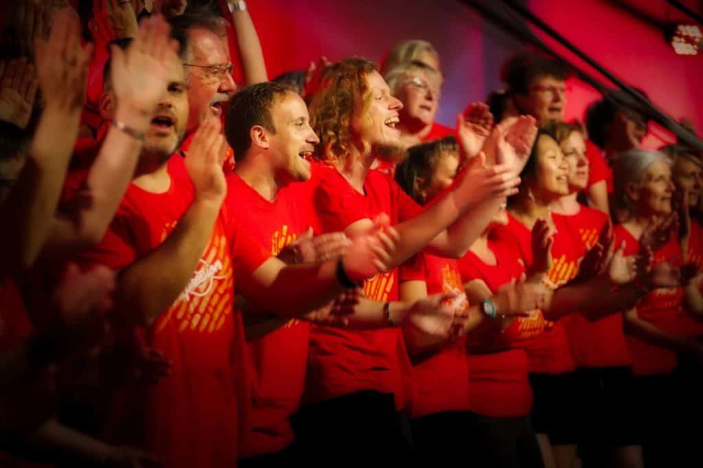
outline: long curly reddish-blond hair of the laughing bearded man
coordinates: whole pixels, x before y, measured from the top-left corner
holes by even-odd
[[[352,117],[361,115],[361,126],[371,125],[368,110],[373,96],[366,77],[375,71],[376,66],[369,60],[347,58],[330,65],[325,72],[321,88],[309,106],[310,124],[320,138],[315,150],[319,160],[339,162],[359,149],[354,146],[357,135]],[[370,151],[370,143],[361,141],[361,145],[364,154]]]

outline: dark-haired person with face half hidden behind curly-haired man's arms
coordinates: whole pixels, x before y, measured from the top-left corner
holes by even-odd
[[[453,138],[441,141],[423,143],[408,150],[408,159],[399,166],[396,179],[401,188],[419,204],[430,204],[446,188],[451,186],[459,167],[459,151]],[[505,212],[503,211],[503,214]],[[457,460],[463,453],[463,443],[467,435],[471,440],[482,438],[488,440],[491,435],[482,434],[480,429],[471,431],[476,418],[472,410],[472,382],[470,365],[467,366],[465,351],[465,333],[475,330],[480,325],[492,328],[491,313],[475,301],[470,307],[464,292],[464,286],[459,273],[460,266],[456,259],[444,259],[431,254],[419,253],[412,261],[400,267],[400,299],[416,301],[427,297],[428,294],[446,294],[447,297],[437,299],[437,308],[452,307],[456,313],[463,316],[460,323],[451,320],[451,315],[445,319],[444,327],[436,327],[431,333],[420,331],[419,320],[422,316],[407,320],[402,327],[408,354],[413,362],[413,397],[411,401],[411,427],[413,442],[422,462],[443,463]],[[513,316],[515,311],[509,306],[510,299],[515,299],[516,291],[509,285],[493,297],[501,317]],[[538,286],[538,297],[530,299],[529,291],[524,293],[524,304],[534,300],[529,310],[536,306],[543,289]],[[439,305],[441,304],[441,306]],[[498,318],[498,311],[493,311],[493,318]],[[440,315],[442,311],[438,311]],[[501,320],[501,319],[498,319]],[[451,330],[455,328],[456,330]],[[453,333],[452,333],[453,331]],[[457,338],[458,337],[458,338]],[[527,385],[527,370],[525,371],[525,386]],[[510,395],[508,398],[515,398]],[[467,433],[467,430],[469,432]],[[497,435],[501,431],[491,431]],[[510,436],[507,436],[510,438]],[[501,445],[505,439],[500,438],[492,448]],[[534,436],[532,443],[536,448]],[[482,447],[486,447],[482,444]],[[501,453],[505,450],[500,447]],[[489,464],[489,457],[479,457],[472,449],[471,460],[474,463]],[[486,450],[485,455],[490,450]],[[534,451],[539,460],[539,451]]]

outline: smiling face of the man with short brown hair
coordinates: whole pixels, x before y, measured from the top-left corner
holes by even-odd
[[[275,132],[266,131],[271,161],[276,173],[288,181],[310,178],[310,157],[319,138],[310,126],[307,106],[296,93],[277,96],[271,107]]]

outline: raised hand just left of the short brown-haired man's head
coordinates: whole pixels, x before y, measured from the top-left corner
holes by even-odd
[[[227,193],[222,171],[227,143],[220,134],[221,123],[212,117],[203,122],[193,136],[186,170],[195,187],[195,200],[214,202],[219,207]]]

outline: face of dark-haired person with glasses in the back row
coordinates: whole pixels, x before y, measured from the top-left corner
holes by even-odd
[[[516,94],[517,108],[537,119],[538,124],[563,120],[566,85],[563,79],[539,76],[532,80],[527,94]]]

